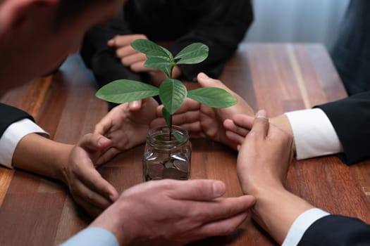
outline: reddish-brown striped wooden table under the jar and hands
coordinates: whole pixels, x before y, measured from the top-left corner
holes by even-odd
[[[242,44],[221,76],[252,107],[270,116],[344,98],[346,93],[321,44]],[[35,79],[1,101],[30,112],[56,141],[75,143],[106,114],[95,98],[94,78],[78,56],[68,58],[54,77]],[[220,179],[226,196],[241,195],[236,153],[206,140],[192,141],[192,178]],[[118,189],[142,181],[144,146],[119,155],[100,169]],[[347,167],[337,157],[292,164],[288,187],[331,213],[356,216],[370,223],[370,162]],[[58,245],[89,224],[66,186],[25,171],[0,167],[0,245]],[[250,219],[226,237],[193,245],[274,245]]]

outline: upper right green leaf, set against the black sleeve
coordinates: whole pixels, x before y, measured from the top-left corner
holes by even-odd
[[[178,60],[176,64],[195,64],[201,63],[208,56],[209,48],[202,43],[190,44],[183,48],[176,56],[175,60]]]

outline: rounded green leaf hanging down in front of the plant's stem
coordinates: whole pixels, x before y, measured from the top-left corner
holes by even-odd
[[[166,79],[159,87],[159,98],[170,115],[180,108],[186,95],[186,87],[177,79]]]

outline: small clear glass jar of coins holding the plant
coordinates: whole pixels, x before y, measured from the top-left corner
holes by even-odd
[[[192,144],[189,135],[178,126],[173,126],[172,131],[182,136],[180,142],[173,134],[170,135],[167,126],[149,129],[142,161],[144,181],[190,179]]]

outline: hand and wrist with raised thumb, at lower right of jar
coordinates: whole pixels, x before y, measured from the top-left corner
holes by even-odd
[[[269,123],[266,112],[257,112],[253,126],[238,155],[238,177],[242,191],[254,195],[251,215],[279,245],[293,222],[314,208],[285,189],[293,153],[292,135]]]

